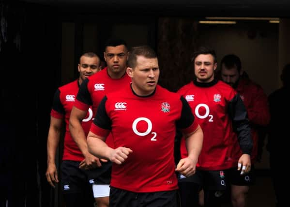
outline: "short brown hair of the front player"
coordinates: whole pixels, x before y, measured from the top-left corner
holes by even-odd
[[[156,52],[147,45],[132,47],[128,56],[128,67],[136,67],[137,56],[143,56],[145,58],[157,58]]]

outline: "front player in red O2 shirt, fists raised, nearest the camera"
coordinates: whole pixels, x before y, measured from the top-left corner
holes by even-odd
[[[203,133],[185,101],[157,85],[158,59],[148,46],[129,53],[131,84],[101,101],[88,135],[90,152],[113,162],[110,207],[177,207],[175,170],[195,173]],[[188,157],[175,168],[176,128],[186,137]],[[114,148],[106,144],[111,133]]]

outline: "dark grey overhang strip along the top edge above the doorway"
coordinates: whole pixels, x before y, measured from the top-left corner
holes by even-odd
[[[80,12],[290,17],[290,0],[20,0]]]

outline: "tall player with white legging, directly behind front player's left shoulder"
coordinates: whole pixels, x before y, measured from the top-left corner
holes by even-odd
[[[90,106],[92,106],[94,117],[97,107],[107,93],[118,91],[130,83],[131,80],[126,74],[127,57],[128,49],[125,41],[121,39],[109,39],[107,41],[104,52],[107,67],[81,84],[69,120],[69,129],[72,137],[86,158],[80,167],[91,169],[95,168],[96,165],[98,166],[100,176],[91,180],[94,184],[94,190],[102,189],[98,194],[94,194],[95,197],[101,197],[100,199],[102,199],[102,202],[97,203],[98,207],[107,207],[109,205],[108,196],[112,164],[110,161],[100,161],[89,153],[86,134],[80,124]],[[111,145],[112,139],[111,136],[107,138],[109,145]]]

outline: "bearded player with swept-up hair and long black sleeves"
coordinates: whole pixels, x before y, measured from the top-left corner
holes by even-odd
[[[217,67],[215,51],[208,47],[198,48],[193,54],[192,63],[196,78],[177,93],[187,100],[197,117],[204,141],[197,173],[191,177],[179,176],[181,204],[182,207],[198,205],[198,191],[202,187],[204,206],[219,207],[220,196],[227,186],[228,170],[236,164],[231,153],[236,143],[243,152],[238,159],[238,170],[241,174],[250,171],[250,126],[241,97],[228,84],[214,78]],[[182,158],[187,153],[185,140],[182,139]]]

